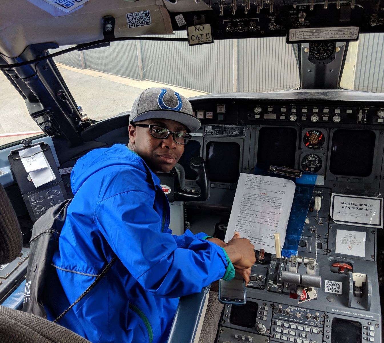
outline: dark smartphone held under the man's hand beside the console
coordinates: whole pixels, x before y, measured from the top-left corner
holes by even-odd
[[[235,277],[232,280],[219,280],[218,301],[223,304],[245,304],[247,301],[245,296],[245,280],[241,275],[235,273]]]

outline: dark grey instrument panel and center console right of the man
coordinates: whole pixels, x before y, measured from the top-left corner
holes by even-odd
[[[192,231],[214,225],[219,238],[240,173],[274,165],[317,174],[296,255],[255,251],[247,303],[224,306],[216,343],[381,342],[381,229],[334,221],[331,200],[382,198],[384,102],[264,97],[192,99],[202,128],[180,160],[185,190],[198,193],[187,161],[204,157],[211,195],[187,202],[188,221]]]

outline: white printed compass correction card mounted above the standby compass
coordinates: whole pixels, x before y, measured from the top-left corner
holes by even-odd
[[[357,39],[359,28],[356,26],[348,27],[324,27],[324,28],[291,28],[288,40],[310,41],[310,40],[331,40],[331,39]]]

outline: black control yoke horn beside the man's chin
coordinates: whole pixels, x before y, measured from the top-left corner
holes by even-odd
[[[210,195],[210,184],[204,158],[200,156],[192,157],[189,161],[190,168],[195,171],[196,183],[200,187],[200,194],[189,193],[181,187],[175,190],[175,200],[177,201],[202,201],[207,200]]]

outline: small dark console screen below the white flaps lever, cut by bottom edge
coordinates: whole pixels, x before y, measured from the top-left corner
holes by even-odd
[[[358,321],[333,318],[331,343],[361,343],[361,323]]]

